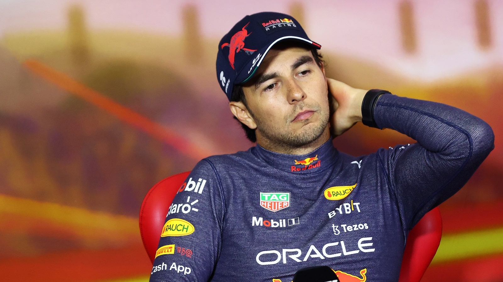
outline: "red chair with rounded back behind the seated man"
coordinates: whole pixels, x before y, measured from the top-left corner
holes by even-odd
[[[178,189],[190,171],[175,174],[155,184],[140,208],[140,234],[153,263],[166,214]],[[442,237],[442,218],[438,208],[428,212],[410,231],[400,270],[399,282],[419,282],[437,252]]]

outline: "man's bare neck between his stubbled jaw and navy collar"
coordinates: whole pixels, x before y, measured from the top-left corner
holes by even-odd
[[[276,152],[276,153],[281,153],[281,154],[291,154],[291,155],[305,155],[308,154],[317,148],[319,146],[323,145],[326,141],[330,139],[330,131],[329,127],[327,126],[323,133],[318,136],[314,141],[301,145],[301,146],[288,146],[286,144],[278,144],[275,142],[272,142],[269,139],[261,138],[261,136],[257,135],[257,144],[262,146],[264,149]]]

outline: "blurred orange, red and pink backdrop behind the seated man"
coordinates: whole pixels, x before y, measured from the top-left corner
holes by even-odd
[[[245,150],[218,86],[218,41],[247,14],[293,15],[327,75],[450,104],[495,149],[441,205],[423,281],[503,281],[503,2],[0,1],[0,280],[147,281],[138,212],[150,187]],[[413,142],[358,125],[354,155]]]

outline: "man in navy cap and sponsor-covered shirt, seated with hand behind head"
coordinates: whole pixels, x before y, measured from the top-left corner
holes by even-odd
[[[291,281],[328,265],[396,281],[408,231],[456,193],[493,148],[450,106],[326,78],[291,16],[246,16],[225,35],[217,78],[257,146],[201,160],[166,217],[151,281]],[[332,137],[355,123],[417,140],[353,157]]]

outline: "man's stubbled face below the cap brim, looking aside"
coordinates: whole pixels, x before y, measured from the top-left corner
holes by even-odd
[[[273,48],[254,78],[243,86],[250,116],[245,124],[257,128],[260,145],[284,151],[328,140],[326,78],[310,50]]]

